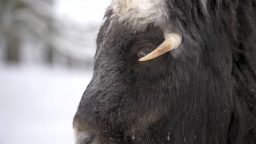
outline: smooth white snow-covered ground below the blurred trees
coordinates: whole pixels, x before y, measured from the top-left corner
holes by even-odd
[[[0,144],[71,144],[92,70],[0,66]]]

